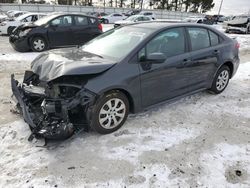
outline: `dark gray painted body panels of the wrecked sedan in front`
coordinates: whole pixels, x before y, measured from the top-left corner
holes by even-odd
[[[158,33],[168,28],[187,26],[202,27],[217,33],[221,38],[220,45],[195,52],[188,45],[185,54],[168,58],[162,64],[149,62],[147,69],[138,62],[137,53]],[[84,87],[98,95],[112,89],[124,90],[130,95],[133,111],[137,112],[164,100],[210,88],[214,75],[224,63],[232,66],[233,74],[238,68],[236,41],[212,27],[166,23],[143,23],[129,27],[148,28],[152,34],[118,63],[106,58],[88,57],[80,50],[57,51],[52,54],[59,54],[58,60],[50,58],[50,54],[42,55],[33,62],[33,70],[40,74],[40,79],[47,81],[65,75],[102,73],[89,79]]]

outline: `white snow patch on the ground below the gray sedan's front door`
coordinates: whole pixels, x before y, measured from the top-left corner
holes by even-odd
[[[162,117],[158,117],[159,119]],[[149,118],[147,118],[150,121]],[[133,123],[132,127],[136,127],[136,124]],[[163,127],[163,126],[162,126]],[[198,129],[193,128],[167,128],[163,129],[162,127],[147,129],[130,129],[130,132],[127,135],[123,135],[125,140],[133,140],[136,137],[136,140],[129,142],[128,144],[118,145],[110,147],[109,143],[104,144],[102,147],[102,156],[105,156],[109,159],[123,159],[128,160],[131,163],[136,164],[138,162],[138,156],[143,152],[147,151],[164,151],[167,148],[170,148],[174,145],[188,140],[194,139],[199,136],[201,132]],[[132,132],[133,131],[133,132]],[[120,137],[114,139],[116,142]],[[108,141],[108,140],[107,140]],[[112,153],[112,155],[110,155]]]

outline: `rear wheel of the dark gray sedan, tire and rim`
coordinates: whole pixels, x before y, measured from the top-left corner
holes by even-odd
[[[222,75],[224,75],[224,73],[227,73],[227,79],[225,77],[221,77]],[[220,94],[221,92],[223,92],[229,83],[230,75],[231,75],[231,71],[229,67],[226,65],[223,65],[216,73],[214,80],[213,80],[212,87],[209,89],[209,91],[211,91],[214,94]],[[223,80],[221,84],[218,83],[219,79]]]

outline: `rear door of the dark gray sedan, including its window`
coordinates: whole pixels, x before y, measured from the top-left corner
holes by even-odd
[[[191,50],[191,61],[185,64],[191,76],[188,91],[207,88],[220,58],[219,36],[202,27],[188,27],[187,35]]]

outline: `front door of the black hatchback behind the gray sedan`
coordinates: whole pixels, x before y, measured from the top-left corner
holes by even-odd
[[[71,45],[72,37],[72,16],[59,16],[52,20],[48,27],[48,39],[50,46]]]

